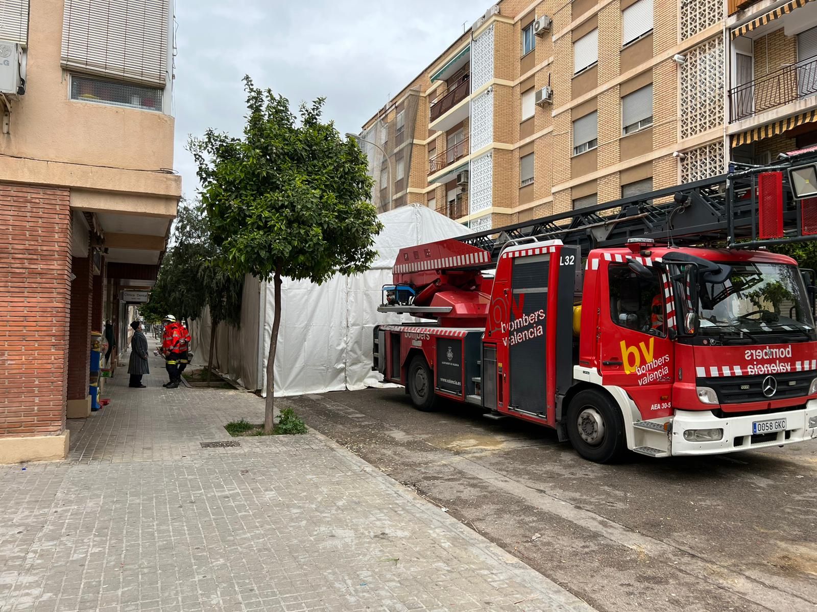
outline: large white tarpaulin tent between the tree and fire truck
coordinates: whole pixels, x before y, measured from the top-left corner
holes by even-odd
[[[367,272],[336,275],[315,285],[284,279],[275,395],[340,391],[376,386],[382,378],[372,367],[372,333],[377,324],[405,317],[377,312],[381,288],[392,282],[391,267],[405,246],[462,236],[468,228],[419,205],[401,206],[379,215],[377,259]],[[246,388],[266,388],[266,360],[273,319],[273,287],[251,277],[244,286],[242,324],[217,330],[217,367]],[[406,319],[408,320],[408,319]],[[209,318],[194,325],[197,364],[206,363]],[[258,339],[263,338],[259,343]]]

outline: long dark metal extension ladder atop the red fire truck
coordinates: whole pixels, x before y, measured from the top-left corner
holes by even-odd
[[[670,246],[730,248],[813,240],[817,197],[795,198],[788,175],[792,166],[808,162],[817,167],[817,151],[784,154],[772,166],[733,170],[458,240],[489,251],[493,264],[506,246],[534,240],[559,239],[578,245],[582,255],[594,248],[621,246],[631,238],[652,238]]]

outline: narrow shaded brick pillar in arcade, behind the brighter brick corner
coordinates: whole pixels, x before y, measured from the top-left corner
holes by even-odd
[[[68,347],[68,399],[82,400],[88,395],[88,368],[91,359],[91,296],[93,269],[90,257],[74,257],[71,272],[71,315]]]

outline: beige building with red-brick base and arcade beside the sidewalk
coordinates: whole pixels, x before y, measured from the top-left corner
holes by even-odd
[[[156,278],[181,195],[172,24],[169,0],[0,2],[0,463],[65,456],[92,332],[127,348]]]

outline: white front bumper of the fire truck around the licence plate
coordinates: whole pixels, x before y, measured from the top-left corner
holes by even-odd
[[[775,433],[752,435],[752,424],[786,419],[786,429]],[[713,441],[690,441],[684,437],[689,429],[723,429],[723,437]],[[734,416],[719,419],[711,410],[676,410],[672,419],[672,455],[719,455],[737,450],[765,446],[783,446],[817,438],[817,400],[805,408],[767,415]]]

